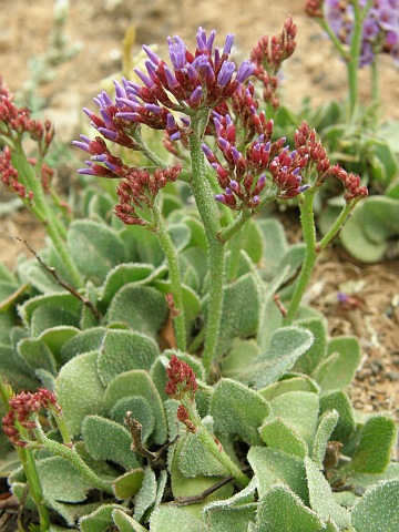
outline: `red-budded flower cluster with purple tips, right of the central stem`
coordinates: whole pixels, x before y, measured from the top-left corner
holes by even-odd
[[[229,114],[213,113],[217,146],[225,165],[221,164],[214,152],[203,144],[207,161],[216,171],[217,181],[224,190],[215,198],[233,209],[255,208],[266,186],[266,171],[277,186],[280,198],[294,197],[304,191],[300,170],[307,163],[307,154],[288,151],[284,147],[285,137],[272,142],[273,121],[266,121],[265,113],[256,112],[250,104],[252,91],[247,90],[247,122],[250,122],[258,136],[249,143],[245,154],[237,149],[236,126]]]

